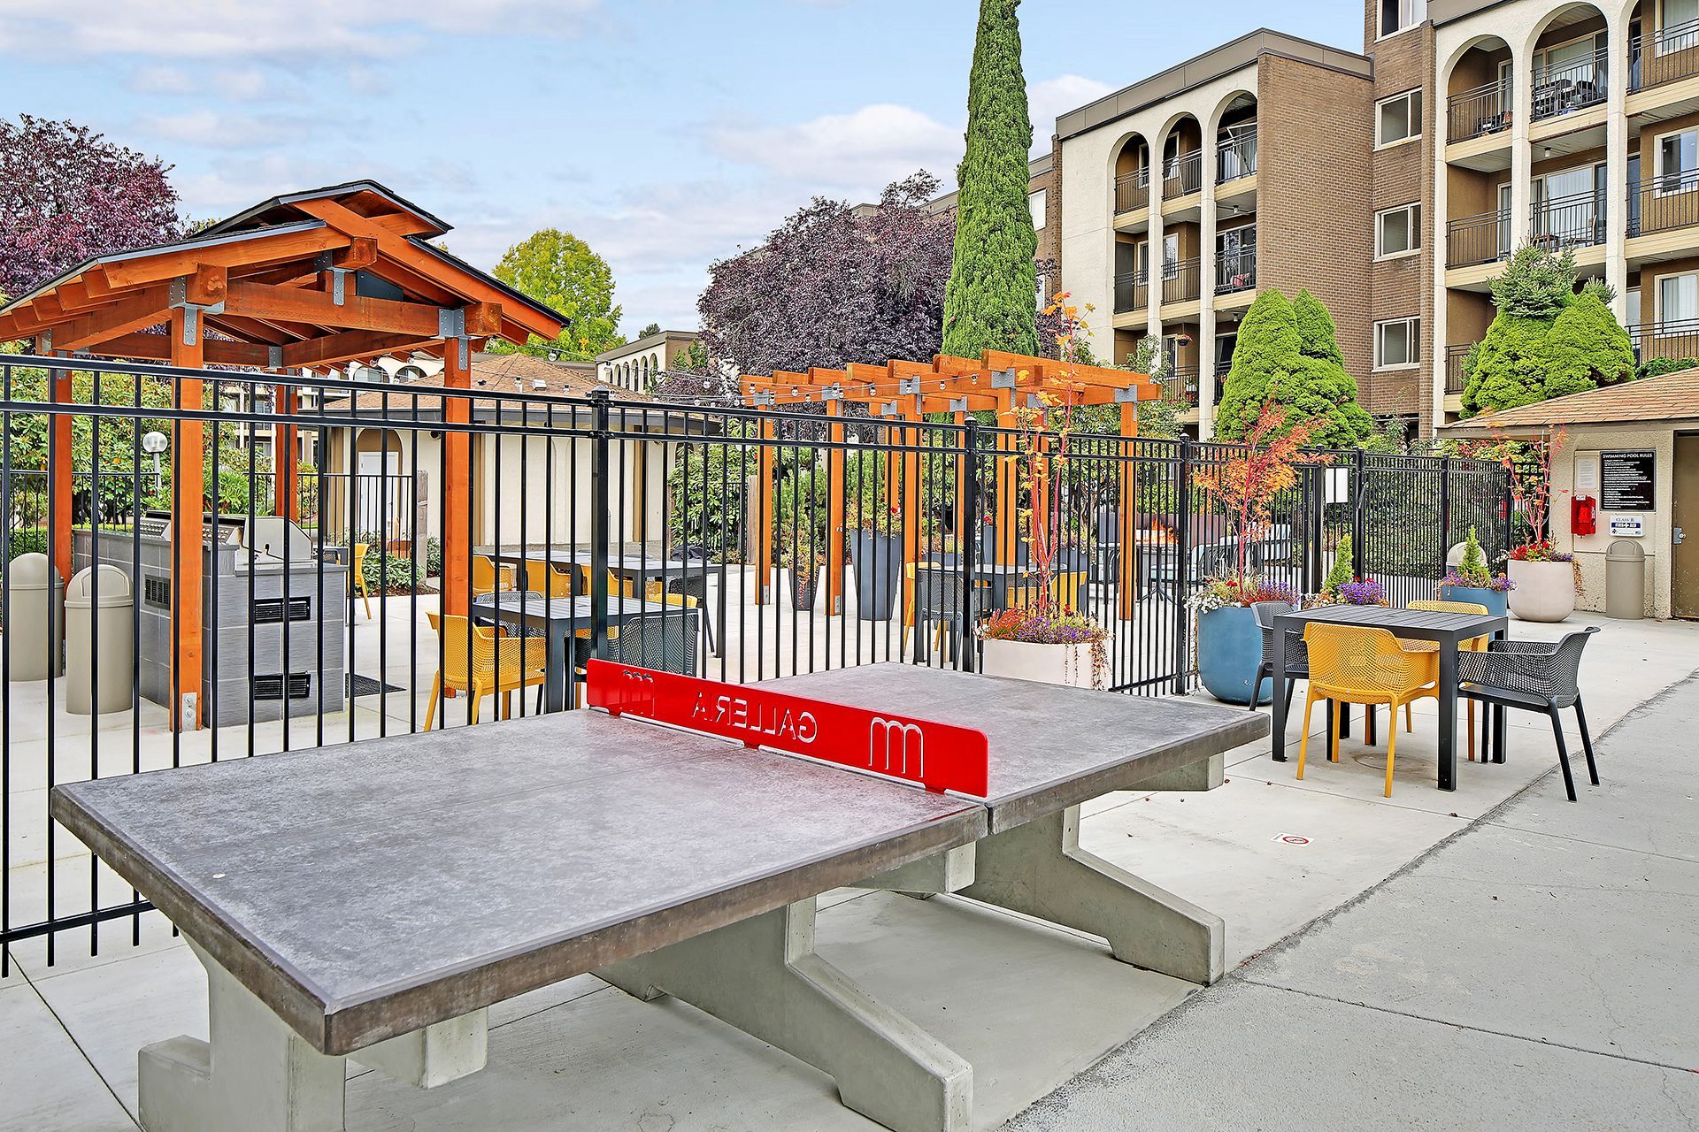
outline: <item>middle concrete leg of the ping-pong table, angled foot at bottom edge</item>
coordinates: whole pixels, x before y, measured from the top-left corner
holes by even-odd
[[[972,1066],[814,954],[812,898],[596,974],[646,1001],[673,995],[809,1062],[887,1129],[970,1127]]]

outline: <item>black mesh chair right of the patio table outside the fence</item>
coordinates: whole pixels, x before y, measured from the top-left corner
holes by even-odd
[[[1582,650],[1587,638],[1599,631],[1589,625],[1570,633],[1558,643],[1548,642],[1488,642],[1487,652],[1458,653],[1458,692],[1497,708],[1539,711],[1551,718],[1551,735],[1558,742],[1558,765],[1563,767],[1563,789],[1575,801],[1575,777],[1570,774],[1570,752],[1563,745],[1563,708],[1575,708],[1575,721],[1582,728],[1582,750],[1587,754],[1587,777],[1599,786],[1599,767],[1594,764],[1592,735],[1587,731],[1587,713],[1582,709],[1580,681]],[[1502,760],[1504,748],[1499,748]]]

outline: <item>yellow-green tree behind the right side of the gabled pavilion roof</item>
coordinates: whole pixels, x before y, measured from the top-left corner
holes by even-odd
[[[513,290],[564,314],[569,324],[556,341],[532,336],[522,350],[542,355],[557,350],[574,361],[590,361],[625,341],[620,307],[613,305],[613,272],[583,239],[557,227],[533,233],[501,256],[494,277]],[[491,343],[496,351],[511,346]]]

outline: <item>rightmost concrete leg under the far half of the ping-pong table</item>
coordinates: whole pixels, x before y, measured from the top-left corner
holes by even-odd
[[[1210,984],[1227,966],[1222,918],[1079,847],[1079,806],[979,842],[962,896],[1109,940],[1121,962]]]

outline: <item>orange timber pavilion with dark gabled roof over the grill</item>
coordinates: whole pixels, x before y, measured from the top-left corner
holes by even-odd
[[[97,356],[253,370],[325,372],[391,353],[443,360],[443,385],[471,389],[471,353],[489,338],[554,339],[567,319],[457,260],[432,241],[449,226],[377,182],[350,182],[274,197],[190,239],[97,256],[0,307],[0,341],[34,339],[44,356]],[[165,326],[167,333],[148,333]],[[71,370],[53,370],[48,399],[71,404]],[[177,380],[178,404],[200,407],[202,380]],[[297,409],[287,380],[275,385],[275,409]],[[471,397],[449,399],[447,419],[471,421]],[[54,567],[71,572],[71,416],[53,417],[49,523]],[[178,485],[204,477],[200,421],[180,421],[172,446]],[[275,468],[277,514],[299,518],[296,428],[280,426]],[[471,513],[467,433],[445,438],[443,514]],[[200,687],[202,507],[199,490],[178,492],[172,514],[172,619],[180,674],[173,674],[173,726],[183,701]],[[443,524],[443,592],[464,604],[471,570],[466,531]],[[194,674],[189,679],[189,674]],[[194,716],[192,716],[194,718]],[[195,721],[199,721],[195,718]]]

